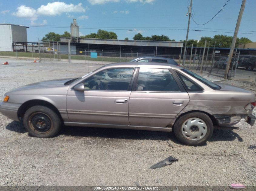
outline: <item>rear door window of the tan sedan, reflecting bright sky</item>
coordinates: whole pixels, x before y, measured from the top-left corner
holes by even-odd
[[[140,68],[136,91],[181,91],[168,69]]]

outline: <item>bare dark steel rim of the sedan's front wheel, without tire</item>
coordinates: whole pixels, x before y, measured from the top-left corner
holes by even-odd
[[[29,119],[29,125],[36,131],[44,133],[47,132],[51,126],[52,121],[45,113],[33,113]]]

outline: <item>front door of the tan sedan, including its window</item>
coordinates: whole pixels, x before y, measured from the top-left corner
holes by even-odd
[[[82,82],[84,91],[68,90],[68,118],[80,123],[129,125],[133,71],[134,68],[105,69]]]

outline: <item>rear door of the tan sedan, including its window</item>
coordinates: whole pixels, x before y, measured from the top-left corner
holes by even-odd
[[[129,122],[134,126],[166,127],[188,102],[188,93],[171,70],[139,68],[129,100]]]

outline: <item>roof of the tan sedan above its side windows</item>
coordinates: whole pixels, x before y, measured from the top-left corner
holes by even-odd
[[[143,66],[143,65],[156,65],[156,66],[161,66],[161,67],[165,67],[166,68],[177,68],[177,69],[181,69],[182,67],[180,66],[176,66],[176,65],[170,65],[168,63],[160,63],[160,62],[118,62],[118,63],[111,63],[111,64],[106,64],[106,67],[112,67],[112,66],[124,66],[124,65],[128,65],[128,66],[133,66],[133,67],[139,67],[139,66]]]

